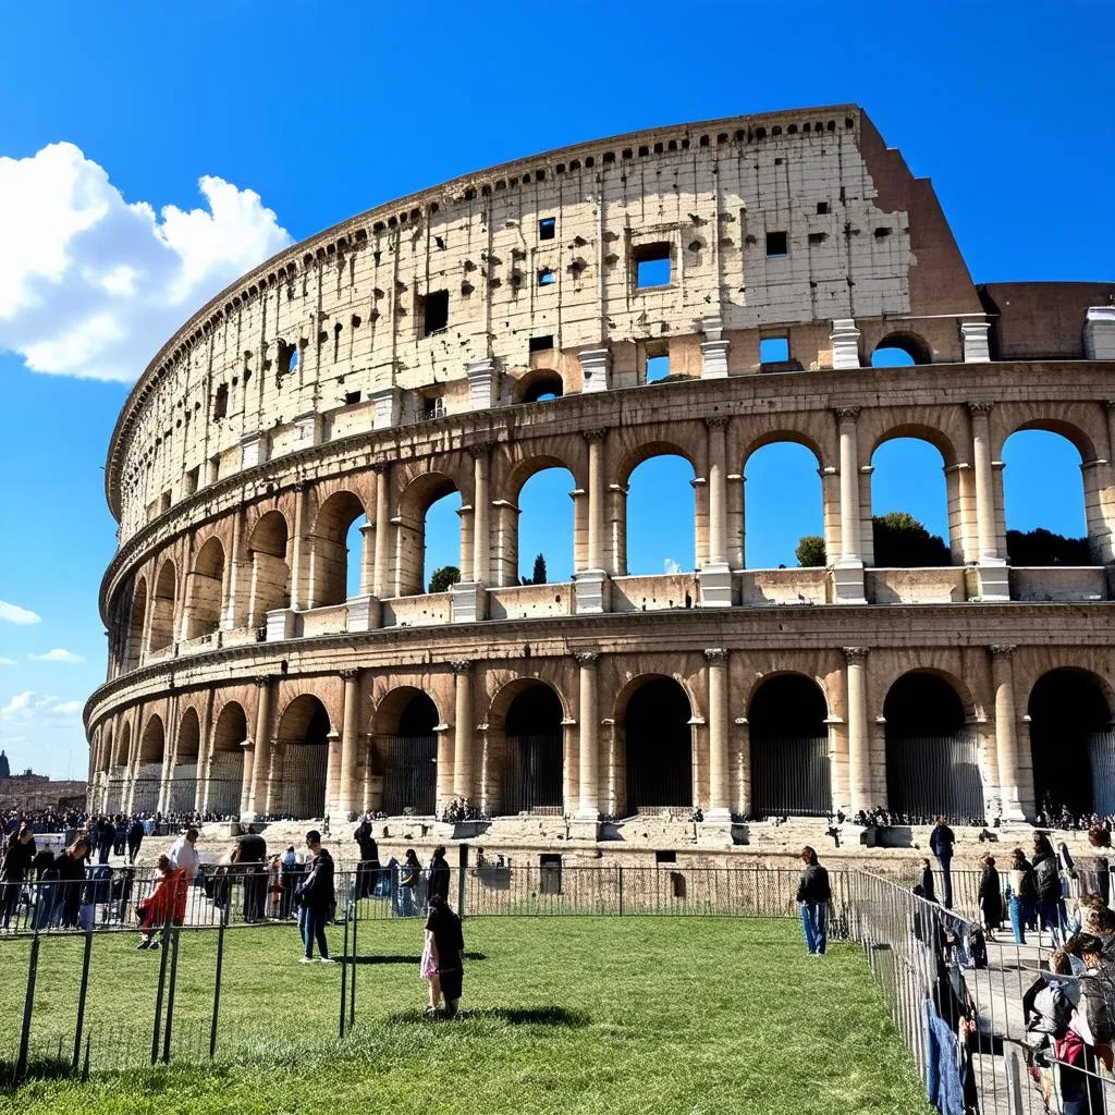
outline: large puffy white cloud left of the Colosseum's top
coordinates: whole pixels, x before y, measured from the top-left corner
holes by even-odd
[[[0,349],[32,371],[135,379],[209,298],[291,243],[254,191],[197,186],[206,207],[156,213],[71,143],[0,158]]]

